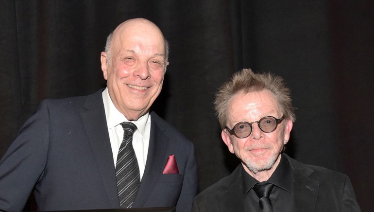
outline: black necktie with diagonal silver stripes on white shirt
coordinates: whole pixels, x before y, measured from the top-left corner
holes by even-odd
[[[121,125],[124,133],[116,163],[117,189],[121,208],[131,208],[140,186],[139,165],[133,148],[136,125],[131,122],[123,122]]]

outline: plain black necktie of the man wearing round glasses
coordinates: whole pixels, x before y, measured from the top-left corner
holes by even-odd
[[[273,184],[271,183],[257,183],[253,186],[253,190],[260,199],[260,208],[262,212],[273,212],[272,202],[270,202],[270,193],[272,192]]]

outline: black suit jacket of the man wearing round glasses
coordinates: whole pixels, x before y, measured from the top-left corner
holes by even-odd
[[[359,212],[352,184],[346,175],[302,164],[286,157],[291,167],[292,212]],[[243,212],[242,165],[202,193],[193,202],[193,212]]]

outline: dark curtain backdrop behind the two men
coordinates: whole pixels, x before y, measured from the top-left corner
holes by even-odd
[[[106,36],[143,17],[170,42],[153,109],[194,142],[201,191],[238,165],[221,141],[215,92],[252,68],[283,76],[291,88],[297,120],[286,152],[347,174],[370,211],[373,11],[372,0],[2,0],[0,157],[40,100],[103,88]]]

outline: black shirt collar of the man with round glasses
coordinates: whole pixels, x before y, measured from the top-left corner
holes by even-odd
[[[291,169],[289,163],[286,157],[282,157],[282,155],[279,157],[281,157],[281,160],[268,182],[271,182],[283,190],[291,192]],[[243,167],[241,167],[241,176],[243,179],[243,196],[245,196],[259,181],[250,176]]]

